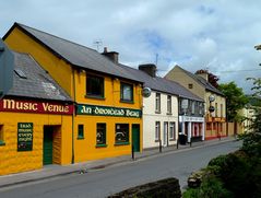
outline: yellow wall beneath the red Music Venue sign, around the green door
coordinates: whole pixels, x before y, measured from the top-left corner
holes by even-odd
[[[3,140],[0,145],[0,175],[32,171],[43,167],[44,126],[61,126],[60,164],[71,163],[71,116],[0,113]],[[33,151],[17,152],[17,123],[33,123]]]

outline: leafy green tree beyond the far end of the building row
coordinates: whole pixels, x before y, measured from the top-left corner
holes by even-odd
[[[235,82],[220,84],[218,90],[226,96],[227,120],[238,121],[238,110],[248,104],[248,97],[244,94],[242,89],[238,88]]]

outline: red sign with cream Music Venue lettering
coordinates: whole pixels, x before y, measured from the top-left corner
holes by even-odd
[[[73,114],[73,105],[4,98],[0,101],[0,112]]]

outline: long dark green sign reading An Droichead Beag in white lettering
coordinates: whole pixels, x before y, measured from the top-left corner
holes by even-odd
[[[117,116],[117,117],[142,117],[142,112],[140,109],[132,108],[118,108],[110,106],[95,106],[78,104],[76,106],[78,115],[94,115],[94,116]]]

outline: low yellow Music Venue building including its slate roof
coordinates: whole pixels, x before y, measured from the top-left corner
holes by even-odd
[[[12,89],[0,100],[0,175],[70,163],[70,96],[29,55],[13,55]]]

